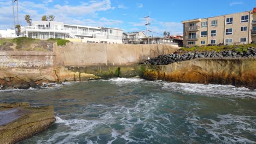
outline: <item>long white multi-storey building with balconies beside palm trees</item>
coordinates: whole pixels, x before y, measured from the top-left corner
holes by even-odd
[[[33,21],[31,26],[21,28],[25,37],[36,39],[73,38],[85,43],[122,43],[123,29],[68,25],[57,21]]]

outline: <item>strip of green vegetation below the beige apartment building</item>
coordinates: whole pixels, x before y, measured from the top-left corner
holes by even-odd
[[[213,46],[194,46],[194,47],[182,47],[183,51],[225,51],[225,50],[237,50],[240,52],[247,51],[248,47],[256,47],[256,44],[245,44],[245,45],[213,45]]]

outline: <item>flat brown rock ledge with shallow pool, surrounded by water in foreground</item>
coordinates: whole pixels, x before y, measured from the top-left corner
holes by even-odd
[[[55,121],[53,106],[0,104],[0,143],[15,143],[39,133]]]

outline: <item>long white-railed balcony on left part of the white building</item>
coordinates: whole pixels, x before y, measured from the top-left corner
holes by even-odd
[[[34,27],[34,26],[26,26],[21,29],[21,32],[24,31],[34,31],[34,32],[60,32],[60,33],[68,33],[68,28],[64,27]]]

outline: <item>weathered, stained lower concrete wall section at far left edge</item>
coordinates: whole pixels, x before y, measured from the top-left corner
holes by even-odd
[[[0,68],[49,67],[54,64],[53,52],[0,51]]]

